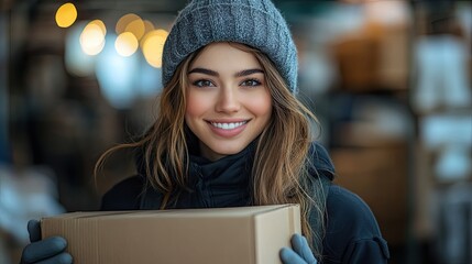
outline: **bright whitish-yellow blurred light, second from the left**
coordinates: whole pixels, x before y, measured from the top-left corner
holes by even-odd
[[[105,25],[103,25],[105,28]],[[101,23],[92,21],[88,23],[80,34],[80,47],[85,54],[97,55],[103,50],[105,33]]]

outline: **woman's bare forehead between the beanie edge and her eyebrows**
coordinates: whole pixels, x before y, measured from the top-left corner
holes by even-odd
[[[190,64],[190,69],[205,67],[213,70],[261,68],[257,58],[243,44],[217,42],[205,46]]]

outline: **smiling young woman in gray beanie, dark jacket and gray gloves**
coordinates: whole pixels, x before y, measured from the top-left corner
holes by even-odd
[[[369,207],[330,183],[332,164],[310,131],[316,118],[296,99],[296,47],[270,0],[191,1],[162,69],[154,124],[97,164],[121,148],[138,153],[139,175],[106,194],[102,210],[299,204],[303,235],[281,249],[283,263],[386,262]],[[37,232],[37,221],[29,226]],[[23,263],[72,261],[63,238],[31,237]]]

